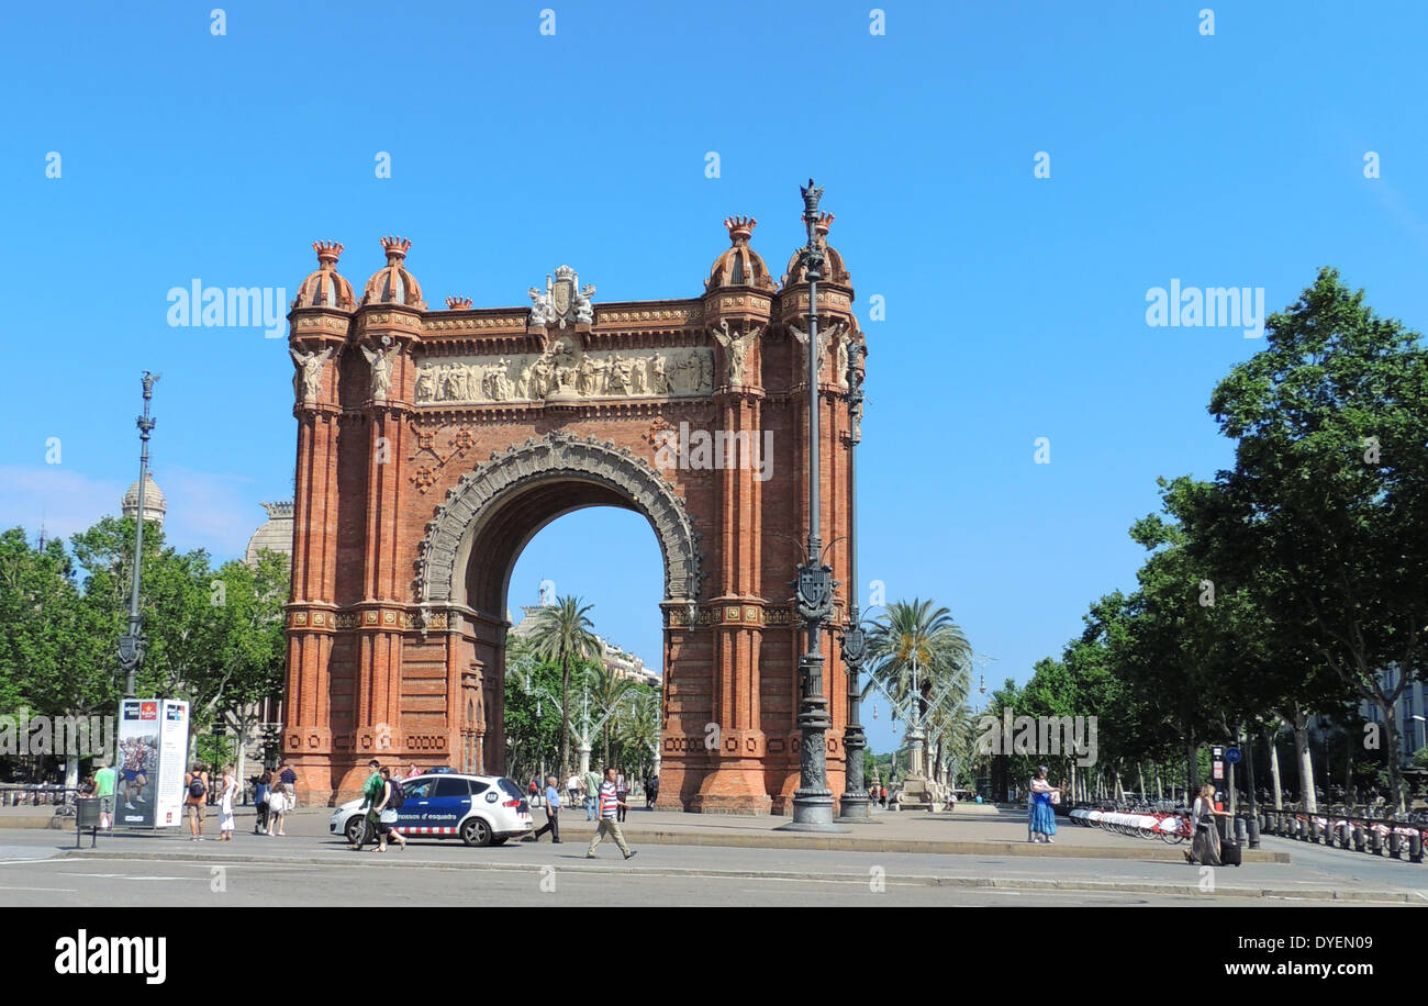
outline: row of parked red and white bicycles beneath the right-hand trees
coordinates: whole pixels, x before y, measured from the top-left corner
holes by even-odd
[[[1368,818],[1354,815],[1347,808],[1331,808],[1328,813],[1257,808],[1257,816],[1261,835],[1354,849],[1372,856],[1388,855],[1391,859],[1421,863],[1424,849],[1428,848],[1428,815],[1422,812]],[[1147,840],[1158,839],[1170,845],[1178,845],[1194,835],[1190,808],[1172,808],[1167,801],[1138,806],[1125,802],[1078,806],[1071,811],[1070,818],[1085,828]],[[1242,833],[1244,829],[1245,818],[1240,815],[1235,830]]]

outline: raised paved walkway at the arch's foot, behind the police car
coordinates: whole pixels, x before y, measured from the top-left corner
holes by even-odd
[[[29,808],[0,809],[0,828],[47,828],[49,813],[29,816],[17,813]],[[41,808],[43,811],[43,808]],[[287,818],[288,836],[327,836],[330,808],[301,808]],[[238,808],[238,832],[253,830],[253,809]],[[537,826],[545,822],[545,812],[531,815]],[[1021,813],[998,812],[991,806],[962,805],[952,813],[925,811],[874,812],[874,822],[848,825],[845,832],[821,835],[780,832],[780,825],[791,818],[734,816],[711,813],[680,813],[633,808],[623,825],[625,836],[638,845],[734,846],[757,849],[807,849],[830,852],[881,852],[974,856],[1025,856],[1031,859],[1122,859],[1140,862],[1184,863],[1188,845],[1165,845],[1155,840],[1125,838],[1092,828],[1081,828],[1058,819],[1052,845],[1027,842],[1027,825]],[[584,809],[561,812],[561,833],[570,842],[588,842],[594,822],[585,820]],[[73,823],[67,822],[73,833]],[[187,838],[187,826],[183,829]],[[217,812],[210,808],[206,833],[217,835]],[[160,836],[133,836],[161,840]],[[167,838],[167,836],[164,836]],[[1264,849],[1244,853],[1245,863],[1288,863],[1287,852]]]

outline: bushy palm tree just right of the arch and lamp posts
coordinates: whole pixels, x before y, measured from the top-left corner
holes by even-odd
[[[920,598],[894,601],[868,634],[868,684],[863,695],[877,682],[894,701],[908,699],[915,664],[920,718],[944,685],[951,688],[948,701],[954,703],[948,715],[955,716],[971,689],[971,644],[947,608],[934,611],[932,601]]]

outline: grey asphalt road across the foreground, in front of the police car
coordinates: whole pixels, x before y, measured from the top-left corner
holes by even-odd
[[[316,829],[314,829],[316,830]],[[1428,906],[1428,866],[1375,860],[1285,842],[1294,865],[1221,869],[1230,889],[1275,896],[1197,893],[1198,868],[1148,860],[1037,859],[865,853],[801,849],[648,845],[628,863],[611,845],[584,859],[584,843],[511,843],[468,849],[413,842],[407,852],[348,852],[327,836],[268,839],[238,832],[231,843],[113,836],[103,859],[67,856],[73,838],[0,833],[0,906],[89,905],[661,905],[661,906],[918,906],[918,905],[1344,905],[1325,889],[1408,892]],[[1268,843],[1268,840],[1267,840]],[[291,862],[244,862],[244,858]],[[198,858],[200,862],[191,862]],[[1061,889],[961,886],[998,882]],[[1152,890],[1087,890],[1074,885],[1147,885]],[[1168,889],[1177,885],[1180,889]],[[1187,885],[1191,890],[1187,890]],[[1369,902],[1378,903],[1378,902]],[[1401,903],[1401,900],[1399,900]]]

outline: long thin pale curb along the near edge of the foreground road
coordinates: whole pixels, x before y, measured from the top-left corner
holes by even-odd
[[[186,855],[181,852],[91,852],[89,849],[67,849],[63,853],[64,859],[104,859],[104,860],[123,860],[123,859],[139,859],[149,862],[183,862],[194,863],[203,866],[213,865],[261,865],[261,866],[331,866],[341,865],[341,858],[320,858],[320,856],[297,856],[297,858],[278,858],[278,856],[254,856],[254,855],[238,855],[238,856],[207,856],[207,855]],[[374,869],[400,869],[403,866],[420,866],[423,869],[443,869],[443,870],[506,870],[516,873],[537,873],[550,866],[550,863],[483,863],[483,862],[427,862],[420,859],[400,858],[393,859],[361,859],[353,860],[354,863],[361,862]],[[558,866],[558,870],[568,873],[590,873],[595,876],[628,876],[631,869],[638,869],[640,876],[673,876],[673,878],[713,878],[713,879],[763,879],[763,880],[808,880],[810,875],[807,872],[794,870],[721,870],[721,869],[697,869],[697,868],[678,868],[678,866],[658,866],[658,868],[627,868],[623,863],[600,865],[600,863],[571,863],[565,866]],[[870,875],[871,876],[871,875]],[[824,878],[817,878],[824,883],[854,883],[865,885],[870,876],[861,873],[828,873]],[[1065,890],[1065,892],[1105,892],[1105,893],[1147,893],[1147,895],[1182,895],[1182,896],[1207,896],[1207,898],[1289,898],[1295,900],[1317,900],[1317,902],[1391,902],[1391,903],[1418,903],[1424,899],[1422,895],[1415,892],[1404,890],[1334,890],[1334,889],[1285,889],[1285,888],[1255,888],[1255,886],[1231,886],[1231,885],[1217,885],[1214,890],[1201,890],[1198,885],[1194,883],[1145,883],[1145,882],[1127,882],[1115,883],[1111,880],[1050,880],[1041,878],[990,878],[990,876],[940,876],[940,875],[917,875],[917,873],[888,873],[880,878],[883,883],[895,886],[917,886],[917,888],[981,888],[981,889],[1005,889],[1005,890]]]

